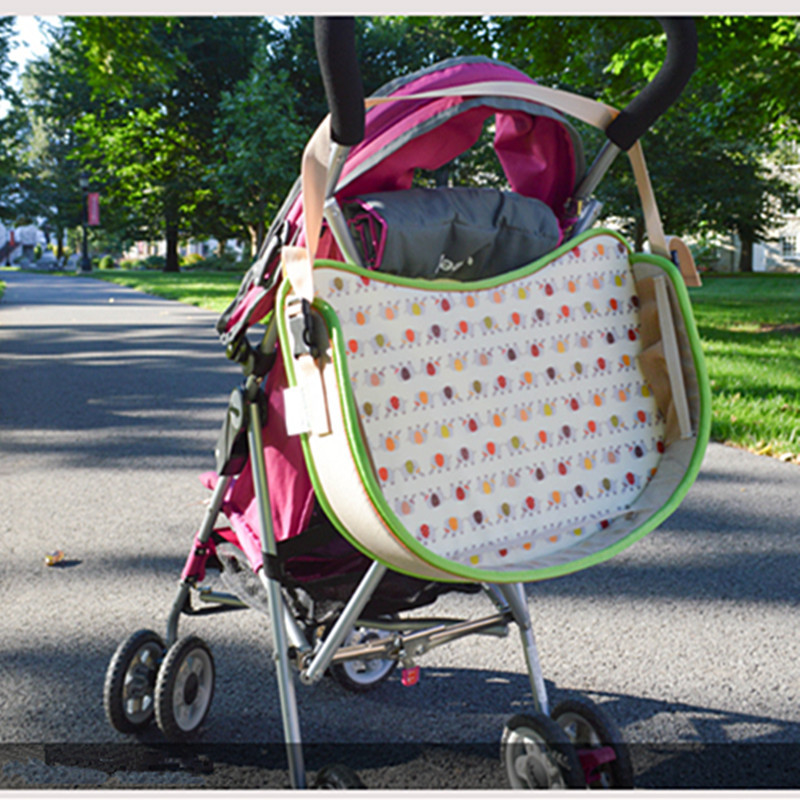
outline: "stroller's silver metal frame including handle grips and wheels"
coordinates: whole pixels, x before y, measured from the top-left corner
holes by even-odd
[[[360,98],[354,102],[352,93],[348,91],[353,86],[360,86],[354,54],[349,62],[348,54],[343,58],[341,53],[338,54],[340,61],[337,62],[338,66],[333,67],[333,78],[330,63],[327,66],[325,63],[331,56],[331,50],[336,50],[338,46],[337,37],[344,38],[345,43],[352,46],[346,41],[348,36],[352,38],[352,29],[348,31],[348,24],[347,20],[329,20],[319,25],[319,51],[332,108],[334,140],[338,142],[331,156],[329,195],[332,195],[332,187],[344,162],[347,145],[358,141],[360,136],[358,116],[352,124],[346,122],[345,117],[348,110],[352,111],[354,107],[363,111]],[[618,125],[622,128],[619,138],[614,137],[604,147],[578,188],[574,204],[579,219],[572,234],[590,227],[594,221],[598,209],[589,196],[614,157],[627,149],[652,124],[653,119],[666,110],[691,74],[692,48],[696,48],[691,23],[674,23],[669,32],[672,49],[668,51],[667,63],[662,68],[662,73],[666,74],[660,73],[656,81],[626,109],[630,119]],[[658,95],[657,100],[655,95]],[[363,131],[363,114],[360,124]],[[612,134],[609,133],[609,136]],[[346,226],[337,222],[340,215],[335,204],[328,205],[326,216],[341,250],[357,260],[354,248],[348,243]],[[247,458],[254,476],[264,563],[257,574],[269,605],[274,637],[273,658],[292,787],[302,789],[307,786],[294,670],[298,672],[301,683],[313,684],[334,665],[347,662],[399,662],[404,669],[403,682],[410,684],[416,680],[416,660],[424,653],[472,634],[506,636],[511,623],[515,623],[519,630],[535,712],[533,715],[513,717],[503,735],[503,759],[512,787],[631,786],[633,771],[627,747],[613,722],[598,707],[584,701],[566,701],[556,709],[550,708],[527,598],[521,583],[483,584],[482,588],[495,611],[475,620],[366,618],[363,611],[387,572],[384,565],[375,561],[324,638],[304,629],[298,622],[282,591],[282,566],[272,526],[262,437],[265,405],[262,386],[275,362],[276,347],[277,325],[274,318],[257,346],[251,345],[246,337],[229,346],[228,356],[242,365],[244,381],[231,397],[218,444],[217,460],[218,463],[220,459],[223,462],[233,459],[241,461],[246,442]],[[196,730],[205,718],[213,694],[213,659],[197,637],[179,639],[180,617],[192,613],[193,592],[206,603],[233,607],[245,605],[234,595],[210,591],[201,585],[207,560],[213,553],[212,537],[223,498],[233,479],[231,475],[225,475],[224,470],[218,472],[220,479],[195,536],[168,615],[166,636],[162,640],[152,631],[137,631],[119,646],[109,665],[104,702],[107,716],[117,730],[139,729],[155,715],[167,738],[180,739]],[[345,644],[354,628],[374,629],[380,631],[381,635],[361,643]],[[196,658],[196,664],[187,669],[186,665],[192,658]],[[186,716],[182,717],[184,712]],[[340,765],[323,770],[323,773],[317,777],[318,787],[360,785],[357,776]]]

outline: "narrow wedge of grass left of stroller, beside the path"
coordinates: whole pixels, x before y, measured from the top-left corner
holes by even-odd
[[[234,272],[159,272],[157,270],[93,270],[92,278],[140,292],[179,300],[221,313],[236,296],[242,276]]]

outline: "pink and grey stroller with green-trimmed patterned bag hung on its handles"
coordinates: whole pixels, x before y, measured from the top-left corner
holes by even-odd
[[[535,708],[501,736],[511,787],[632,786],[601,708],[550,708],[524,584],[600,563],[657,527],[708,441],[684,285],[696,272],[661,230],[638,144],[696,58],[691,21],[661,24],[665,64],[618,113],[485,58],[450,59],[365,102],[352,20],[316,21],[332,116],[219,320],[244,380],[166,636],[137,631],[109,664],[115,729],[155,718],[181,741],[203,723],[214,661],[200,638],[178,636],[193,597],[269,616],[296,788],[307,778],[294,671],[365,691],[399,666],[412,685],[428,650],[513,623]],[[608,136],[588,170],[563,114]],[[510,190],[413,185],[487,120]],[[650,253],[592,227],[594,190],[622,150]],[[227,591],[203,585],[209,570]],[[492,612],[404,616],[452,591],[485,593]],[[314,785],[361,784],[337,764]]]

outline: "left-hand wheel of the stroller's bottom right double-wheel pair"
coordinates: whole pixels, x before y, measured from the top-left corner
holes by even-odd
[[[500,760],[512,789],[586,788],[575,748],[544,714],[517,714],[506,723]]]

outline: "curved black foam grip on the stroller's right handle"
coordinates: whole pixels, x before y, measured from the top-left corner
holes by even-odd
[[[636,140],[680,97],[697,65],[697,29],[687,17],[658,20],[667,34],[667,57],[658,74],[606,128],[606,136],[621,150]]]

